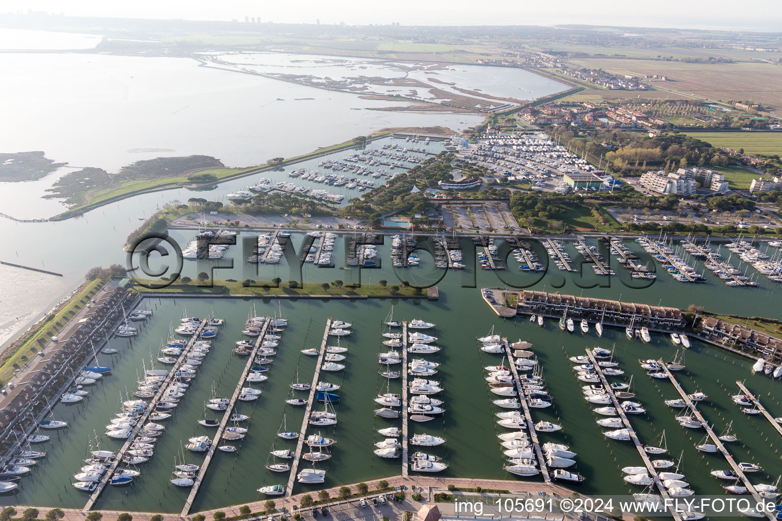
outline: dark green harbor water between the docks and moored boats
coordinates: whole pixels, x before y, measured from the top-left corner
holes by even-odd
[[[244,234],[243,234],[244,235]],[[178,240],[192,240],[189,234],[174,234]],[[299,247],[302,236],[294,235],[292,244]],[[240,241],[241,242],[241,241]],[[387,241],[389,244],[390,241]],[[339,244],[339,243],[338,243]],[[341,279],[346,283],[361,280],[376,284],[378,280],[389,280],[389,284],[398,284],[396,280],[410,280],[411,283],[432,277],[435,269],[428,254],[422,253],[421,268],[392,269],[389,262],[389,245],[378,246],[378,259],[383,266],[380,269],[324,269],[305,266],[303,283],[310,284],[312,291],[320,293],[321,283]],[[568,246],[572,259],[579,259],[575,250]],[[231,258],[235,259],[235,268],[216,270],[215,278],[233,277],[238,280],[271,280],[280,277],[289,280],[289,266],[249,266],[242,259],[242,246],[231,247]],[[340,266],[340,254],[335,248],[335,259]],[[702,264],[696,266],[700,270]],[[615,268],[619,271],[619,268]],[[185,262],[184,274],[202,271],[195,262]],[[658,273],[661,270],[658,269]],[[591,273],[591,270],[590,270]],[[192,276],[192,275],[191,275]],[[87,500],[87,494],[71,487],[72,475],[79,472],[81,462],[88,452],[88,444],[100,442],[100,448],[117,450],[121,441],[114,441],[103,435],[104,426],[118,411],[120,394],[135,390],[135,382],[142,373],[142,363],[149,368],[150,359],[157,352],[167,336],[172,324],[185,312],[188,316],[219,316],[227,319],[221,334],[213,342],[213,348],[204,359],[198,376],[192,381],[185,398],[174,409],[174,416],[165,422],[167,429],[156,444],[155,455],[139,466],[142,476],[131,487],[106,487],[96,509],[122,509],[156,512],[180,512],[188,490],[170,485],[171,470],[181,451],[181,445],[188,437],[204,434],[213,435],[213,430],[199,426],[198,419],[204,415],[204,401],[210,398],[214,385],[218,396],[230,396],[236,386],[246,359],[231,353],[235,341],[242,339],[242,326],[248,314],[276,315],[282,313],[289,319],[289,327],[282,334],[278,355],[267,373],[259,400],[239,402],[238,411],[251,416],[244,426],[249,427],[247,437],[241,442],[232,442],[239,447],[235,454],[217,452],[208,472],[206,481],[195,499],[192,512],[214,509],[247,501],[262,499],[256,492],[258,487],[285,483],[287,473],[271,473],[264,469],[272,447],[295,448],[292,441],[276,437],[283,416],[287,430],[299,430],[303,409],[285,405],[289,398],[289,384],[296,378],[310,382],[314,373],[315,359],[301,355],[303,348],[317,348],[324,334],[326,319],[342,319],[353,323],[353,334],[343,338],[340,345],[349,348],[347,359],[343,362],[346,369],[340,373],[321,373],[321,380],[342,385],[339,390],[341,400],[337,406],[339,423],[328,429],[321,429],[322,435],[336,440],[332,447],[332,459],[318,466],[326,469],[326,482],[322,487],[339,484],[351,484],[362,480],[371,480],[381,476],[394,476],[401,473],[400,460],[381,459],[373,455],[373,443],[382,440],[377,430],[385,426],[400,425],[398,420],[376,417],[373,409],[378,405],[375,394],[385,391],[386,380],[378,375],[377,353],[386,351],[380,341],[382,321],[386,319],[393,306],[393,318],[410,320],[425,319],[436,323],[429,333],[438,337],[436,344],[443,347],[438,355],[427,358],[439,362],[439,373],[433,376],[441,380],[445,391],[443,407],[447,409],[441,418],[429,423],[411,423],[411,435],[417,433],[446,437],[447,443],[426,451],[443,457],[449,468],[444,476],[467,476],[475,478],[521,479],[505,473],[504,457],[496,435],[504,432],[495,423],[495,412],[499,409],[492,405],[492,399],[483,380],[483,366],[496,365],[501,355],[489,355],[479,351],[475,337],[487,334],[492,327],[495,332],[508,337],[510,341],[522,339],[533,343],[543,368],[548,391],[554,398],[550,409],[533,409],[533,419],[542,419],[561,423],[564,429],[560,433],[541,434],[541,441],[554,441],[569,444],[575,451],[577,466],[572,467],[587,477],[579,485],[584,494],[623,494],[640,491],[622,481],[622,466],[638,466],[640,457],[630,443],[609,441],[602,435],[604,429],[597,426],[595,419],[601,418],[584,401],[581,393],[582,382],[576,380],[572,363],[568,357],[582,355],[584,348],[601,346],[614,348],[615,361],[626,371],[624,376],[614,377],[613,381],[629,380],[633,377],[633,391],[647,409],[647,413],[631,416],[630,421],[639,433],[644,444],[654,444],[665,430],[669,453],[668,459],[678,459],[683,453],[681,473],[691,484],[696,494],[723,494],[720,480],[709,475],[715,469],[727,469],[728,466],[719,454],[702,454],[694,449],[703,443],[703,430],[688,430],[674,419],[680,409],[669,409],[664,399],[678,398],[678,394],[668,380],[654,380],[640,369],[637,359],[671,359],[676,352],[668,337],[653,334],[651,344],[628,340],[623,330],[606,328],[604,337],[598,338],[594,329],[590,334],[580,332],[563,333],[553,320],[544,328],[529,323],[524,316],[515,319],[499,319],[482,302],[480,287],[504,286],[503,280],[518,284],[518,281],[533,283],[540,281],[533,289],[540,291],[561,291],[566,294],[583,294],[597,298],[621,298],[622,302],[645,302],[657,305],[672,305],[686,308],[689,304],[702,305],[716,312],[735,312],[744,316],[779,316],[780,298],[778,291],[765,279],[759,279],[761,287],[744,289],[726,287],[722,281],[707,271],[705,284],[681,284],[665,273],[660,273],[655,283],[646,289],[631,289],[622,284],[626,273],[612,277],[611,287],[582,289],[573,284],[570,275],[563,276],[558,270],[549,271],[543,277],[530,273],[519,273],[511,266],[505,273],[493,273],[471,269],[463,272],[446,273],[439,280],[439,300],[395,300],[392,298],[328,300],[328,299],[282,299],[273,298],[149,298],[143,306],[152,309],[154,315],[141,326],[140,334],[133,340],[115,338],[110,347],[120,350],[118,355],[100,355],[102,365],[112,366],[110,376],[104,377],[90,388],[89,397],[78,405],[56,405],[55,419],[66,419],[70,425],[52,434],[52,440],[43,446],[48,458],[40,460],[30,476],[22,481],[18,494],[0,498],[2,504],[52,505],[81,508]],[[475,286],[472,279],[475,278]],[[591,277],[591,278],[590,278]],[[195,277],[194,277],[195,278]],[[589,282],[597,277],[585,275]],[[629,282],[629,281],[628,281]],[[564,283],[561,287],[555,287]],[[588,284],[581,284],[585,286]],[[254,308],[254,309],[253,309]],[[335,344],[330,339],[329,344]],[[752,360],[726,351],[719,350],[698,341],[693,342],[687,351],[685,364],[687,369],[676,373],[684,389],[692,393],[703,391],[708,400],[701,402],[699,409],[716,431],[721,432],[731,420],[739,442],[730,444],[729,450],[739,462],[756,462],[763,472],[751,475],[753,483],[772,483],[782,474],[779,447],[782,440],[762,416],[745,416],[740,408],[730,400],[737,393],[735,380],[745,380],[748,388],[759,395],[763,405],[773,416],[782,416],[777,398],[779,383],[768,376],[753,375],[750,371]],[[392,380],[390,392],[400,392],[400,380]],[[219,418],[218,413],[207,411],[210,418]],[[318,432],[310,429],[308,432]],[[185,454],[188,462],[199,463],[203,455]],[[302,462],[303,464],[305,462]],[[303,468],[303,467],[302,467]],[[317,487],[296,485],[295,492],[317,491]]]

